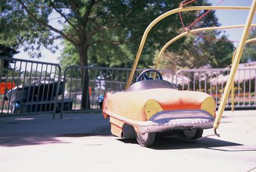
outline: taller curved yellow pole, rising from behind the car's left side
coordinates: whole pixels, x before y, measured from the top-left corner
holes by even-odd
[[[176,8],[174,10],[170,10],[170,11],[167,11],[166,13],[163,13],[163,15],[160,15],[153,22],[151,22],[148,25],[147,29],[145,30],[145,32],[142,36],[141,42],[140,42],[138,52],[137,52],[135,60],[134,60],[134,64],[131,69],[131,73],[130,73],[127,83],[125,85],[125,89],[128,89],[131,85],[132,77],[134,75],[138,61],[140,60],[140,55],[141,55],[142,49],[144,47],[148,32],[152,29],[152,27],[154,27],[154,25],[156,25],[163,18],[168,17],[174,13],[179,13],[182,11],[193,11],[193,10],[194,11],[195,10],[250,10],[250,7],[246,7],[246,6],[189,6],[189,7]]]

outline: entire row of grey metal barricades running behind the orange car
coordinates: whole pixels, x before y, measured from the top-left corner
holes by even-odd
[[[69,66],[61,79],[58,64],[0,58],[0,117],[6,115],[97,111],[106,92],[125,89],[131,69]],[[143,69],[137,69],[132,83]],[[230,69],[159,70],[179,90],[202,91],[220,103]],[[153,75],[153,74],[151,74]],[[256,108],[256,68],[238,69],[236,107]],[[90,100],[90,101],[89,101]],[[230,106],[230,97],[227,107]]]

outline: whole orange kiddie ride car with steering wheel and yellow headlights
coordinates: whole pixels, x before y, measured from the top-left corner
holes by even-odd
[[[148,76],[152,72],[157,79]],[[204,129],[212,128],[215,108],[209,94],[177,90],[159,71],[147,69],[124,92],[108,92],[102,111],[109,117],[112,134],[136,138],[141,146],[149,147],[156,133],[174,133],[196,141]]]

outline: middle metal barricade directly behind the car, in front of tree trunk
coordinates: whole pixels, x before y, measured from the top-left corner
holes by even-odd
[[[133,83],[141,71],[143,69],[136,70]],[[168,69],[159,71],[165,80],[173,81],[172,71]],[[63,90],[65,92],[62,94],[61,115],[63,111],[65,113],[101,111],[104,94],[124,91],[130,72],[131,69],[124,68],[68,66],[64,71]],[[153,76],[153,73],[151,75]],[[83,96],[86,97],[86,104],[83,104]]]

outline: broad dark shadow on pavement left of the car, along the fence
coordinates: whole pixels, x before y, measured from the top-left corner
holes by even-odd
[[[101,114],[65,115],[62,120],[52,120],[51,115],[0,118],[0,147],[68,143],[61,137],[109,134],[109,122]]]

